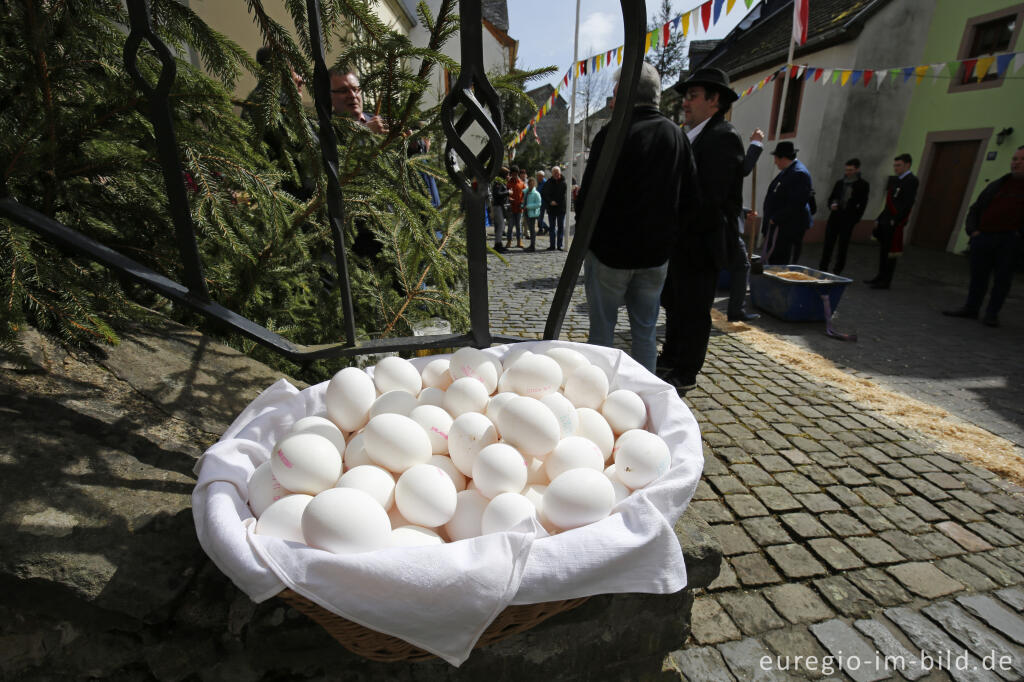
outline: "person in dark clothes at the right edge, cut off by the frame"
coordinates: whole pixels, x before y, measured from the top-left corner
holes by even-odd
[[[981,322],[999,326],[999,308],[1010,293],[1014,262],[1024,243],[1024,146],[1010,160],[1010,172],[982,189],[967,213],[967,233],[971,236],[971,285],[967,302],[950,317],[976,318],[985,300],[989,280],[992,293]]]

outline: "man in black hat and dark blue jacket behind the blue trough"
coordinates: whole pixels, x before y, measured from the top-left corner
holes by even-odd
[[[811,227],[811,174],[797,160],[793,142],[775,145],[771,155],[779,173],[768,185],[762,212],[761,231],[765,236],[765,262],[787,265],[796,262],[804,232]]]

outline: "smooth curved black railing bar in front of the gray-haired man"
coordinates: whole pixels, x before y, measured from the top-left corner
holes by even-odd
[[[623,73],[618,79],[618,91],[615,93],[615,108],[611,113],[611,123],[601,150],[601,158],[594,171],[594,186],[587,189],[587,196],[593,197],[594,201],[586,202],[583,214],[577,221],[575,235],[566,254],[565,265],[558,279],[558,287],[555,289],[555,296],[548,311],[548,321],[544,326],[545,339],[557,339],[562,331],[565,312],[568,310],[587,249],[590,248],[590,238],[594,233],[597,216],[601,212],[611,185],[611,174],[626,142],[633,102],[636,100],[636,82],[640,78],[640,68],[643,66],[643,40],[647,32],[647,7],[644,0],[618,0],[618,3],[623,9],[626,43],[623,47]],[[569,180],[571,181],[571,178]]]

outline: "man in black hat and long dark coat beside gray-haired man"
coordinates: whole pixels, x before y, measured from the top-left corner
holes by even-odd
[[[675,85],[697,165],[700,203],[669,261],[663,375],[680,390],[696,385],[711,336],[718,272],[736,257],[743,209],[743,140],[725,114],[739,95],[720,69],[698,69]]]

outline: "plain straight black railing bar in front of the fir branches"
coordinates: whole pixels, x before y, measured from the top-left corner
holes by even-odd
[[[348,281],[348,258],[345,253],[345,206],[338,181],[338,140],[331,124],[331,76],[328,74],[324,54],[323,29],[319,20],[319,0],[306,0],[309,22],[309,49],[313,57],[313,101],[319,120],[321,155],[327,172],[327,211],[334,240],[334,259],[338,268],[338,286],[341,292],[342,313],[345,315],[345,337],[348,345],[355,345],[355,309],[352,290]]]

